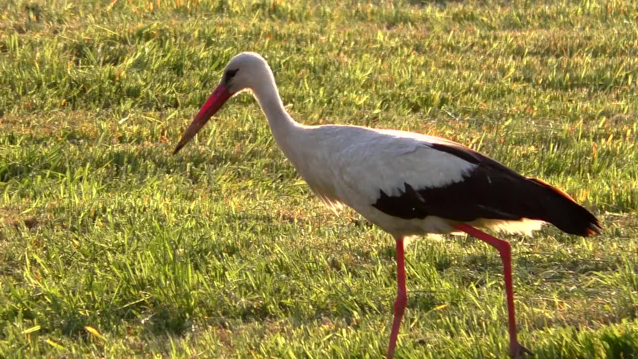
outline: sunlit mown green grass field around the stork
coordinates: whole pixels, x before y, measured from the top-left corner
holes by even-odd
[[[440,135],[564,188],[590,239],[512,241],[538,358],[638,357],[632,0],[0,2],[0,358],[380,358],[394,241],[323,208],[237,96],[181,131],[230,57],[302,123]],[[415,240],[398,358],[506,358],[501,263]]]

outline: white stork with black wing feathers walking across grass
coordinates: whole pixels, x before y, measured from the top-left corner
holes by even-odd
[[[533,355],[517,340],[510,244],[479,228],[531,234],[552,224],[586,237],[602,230],[595,215],[559,188],[447,139],[392,129],[298,123],[286,111],[267,61],[255,52],[230,59],[173,154],[242,91],[255,97],[275,142],[328,208],[338,213],[348,206],[394,238],[397,294],[387,358],[394,356],[407,303],[404,240],[426,234],[468,234],[498,250],[509,355]]]

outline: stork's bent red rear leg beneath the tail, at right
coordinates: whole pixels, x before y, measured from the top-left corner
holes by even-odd
[[[510,356],[512,358],[523,358],[525,354],[534,355],[530,349],[525,348],[516,339],[516,319],[514,317],[514,290],[512,289],[512,254],[510,243],[507,241],[494,238],[487,233],[467,224],[455,225],[457,229],[470,234],[470,236],[479,238],[479,240],[491,245],[498,250],[498,254],[503,261],[503,276],[505,277],[505,296],[507,297],[507,316],[510,332]]]

